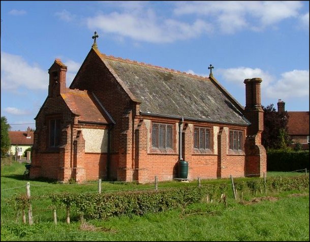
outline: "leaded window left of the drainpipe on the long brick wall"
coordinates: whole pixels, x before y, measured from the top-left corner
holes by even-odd
[[[152,124],[152,147],[158,149],[172,149],[172,125]]]

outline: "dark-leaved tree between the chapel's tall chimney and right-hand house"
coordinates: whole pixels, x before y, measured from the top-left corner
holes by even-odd
[[[266,149],[287,148],[290,140],[287,131],[288,113],[278,113],[273,104],[264,110],[264,131],[262,133],[262,144]]]

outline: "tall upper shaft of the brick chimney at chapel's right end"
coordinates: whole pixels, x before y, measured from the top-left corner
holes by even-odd
[[[245,79],[245,117],[251,122],[249,135],[261,134],[264,130],[264,111],[261,105],[261,78]]]

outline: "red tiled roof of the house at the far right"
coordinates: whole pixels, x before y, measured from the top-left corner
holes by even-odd
[[[309,135],[309,112],[288,111],[289,135]]]

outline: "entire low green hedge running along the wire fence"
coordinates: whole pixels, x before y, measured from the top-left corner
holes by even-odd
[[[266,182],[263,178],[238,181],[235,188],[241,194],[249,191],[253,194],[268,191],[290,191],[301,190],[309,187],[309,176],[300,175],[296,177],[272,177]],[[183,206],[185,203],[199,202],[207,197],[210,200],[219,199],[222,194],[227,194],[231,185],[205,184],[201,187],[169,188],[165,190],[127,191],[114,193],[88,193],[70,194],[54,193],[44,196],[51,199],[51,209],[66,207],[75,209],[81,218],[104,220],[113,216],[144,215],[146,213],[157,213]],[[16,196],[11,202],[18,209],[25,209],[30,200],[43,199],[43,196],[27,198]]]

